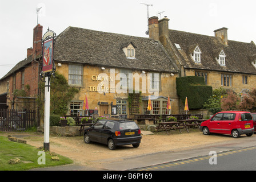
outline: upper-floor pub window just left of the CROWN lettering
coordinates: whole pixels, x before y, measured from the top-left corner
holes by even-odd
[[[82,86],[83,65],[69,65],[69,85]]]

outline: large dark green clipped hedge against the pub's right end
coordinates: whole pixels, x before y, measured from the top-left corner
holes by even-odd
[[[183,105],[187,97],[189,109],[202,109],[203,104],[213,95],[213,88],[205,85],[205,79],[199,76],[176,78],[176,89]]]

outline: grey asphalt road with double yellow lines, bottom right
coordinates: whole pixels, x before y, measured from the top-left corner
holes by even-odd
[[[255,171],[255,155],[256,147],[211,152],[206,156],[141,168],[139,171]]]

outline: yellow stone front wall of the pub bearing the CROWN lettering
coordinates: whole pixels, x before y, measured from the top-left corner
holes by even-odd
[[[58,63],[55,63],[58,65]],[[114,73],[111,73],[111,70],[114,70]],[[67,63],[61,63],[61,67],[57,66],[57,72],[61,73],[65,78],[68,80],[69,78],[69,64]],[[105,80],[108,79],[108,81],[105,83],[105,94],[104,92],[97,92],[97,89],[101,87],[101,83],[103,78],[101,77],[101,73],[105,73],[106,77]],[[119,84],[118,80],[118,73],[120,73],[120,70],[118,68],[107,68],[101,69],[101,67],[94,66],[94,65],[83,65],[83,85],[78,86],[79,93],[73,98],[73,101],[83,101],[85,94],[87,95],[88,102],[89,102],[89,109],[97,109],[101,110],[100,106],[98,105],[98,102],[107,102],[107,106],[109,107],[109,113],[111,113],[111,102],[113,102],[113,105],[117,105],[116,101],[117,98],[127,99],[128,98],[128,90],[127,93],[117,93],[117,90],[113,92],[113,87],[117,84]],[[141,71],[133,71],[133,74],[137,73],[138,75],[141,75]],[[147,75],[148,72],[146,72]],[[103,75],[104,76],[104,75]],[[159,92],[159,96],[168,97],[170,96],[171,101],[171,107],[172,107],[172,113],[178,114],[178,105],[179,105],[179,98],[176,93],[176,77],[178,77],[178,73],[175,75],[171,75],[170,73],[161,73],[161,90]],[[115,77],[115,78],[113,78]],[[142,91],[142,78],[140,78],[140,86],[139,90]],[[146,84],[147,86],[147,84]],[[145,86],[144,86],[145,87]],[[143,88],[144,88],[143,87]],[[108,88],[108,89],[106,89]],[[111,89],[110,89],[111,88]],[[135,85],[134,85],[135,90]],[[98,90],[101,91],[101,90]],[[142,93],[142,96],[149,96],[151,93],[148,92],[146,89],[146,93]],[[139,113],[142,114],[142,104],[139,109]],[[129,117],[129,109],[128,111],[128,117]],[[101,114],[101,113],[100,113]]]

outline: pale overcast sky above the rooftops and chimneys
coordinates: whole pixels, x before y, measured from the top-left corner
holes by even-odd
[[[59,35],[74,26],[148,37],[147,6],[142,3],[153,5],[149,17],[167,16],[170,29],[214,36],[214,30],[227,27],[229,40],[256,43],[253,0],[0,0],[0,78],[25,59],[27,48],[33,46],[37,7],[42,7],[43,34],[48,27]]]

